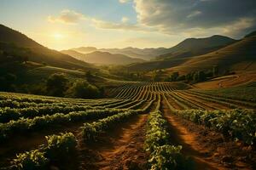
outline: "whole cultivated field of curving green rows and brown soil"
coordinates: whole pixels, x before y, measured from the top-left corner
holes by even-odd
[[[108,94],[1,93],[1,169],[255,169],[255,102],[172,82]]]

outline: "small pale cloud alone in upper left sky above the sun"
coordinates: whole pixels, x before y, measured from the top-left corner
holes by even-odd
[[[78,23],[79,20],[85,20],[86,17],[84,14],[80,14],[76,11],[65,9],[61,11],[59,16],[48,16],[49,22],[61,22],[65,24],[75,24]]]

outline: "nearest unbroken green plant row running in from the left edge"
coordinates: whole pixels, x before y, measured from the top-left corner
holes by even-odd
[[[18,121],[10,121],[8,123],[0,124],[0,142],[9,139],[16,133],[38,131],[45,128],[59,126],[67,122],[83,122],[87,120],[101,119],[125,111],[127,110],[105,109],[74,111],[66,115],[63,113],[56,113],[51,116],[36,116],[33,119],[21,118]]]

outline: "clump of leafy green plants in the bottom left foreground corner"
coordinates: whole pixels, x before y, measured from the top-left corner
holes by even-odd
[[[73,133],[61,133],[45,137],[47,144],[41,145],[38,150],[20,153],[11,161],[10,169],[19,170],[44,170],[49,169],[50,164],[62,164],[75,156],[77,151],[77,139]]]

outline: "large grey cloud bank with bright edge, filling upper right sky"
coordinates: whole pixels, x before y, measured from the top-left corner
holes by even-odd
[[[191,30],[240,35],[256,28],[255,0],[134,0],[134,8],[138,24],[170,35]]]

